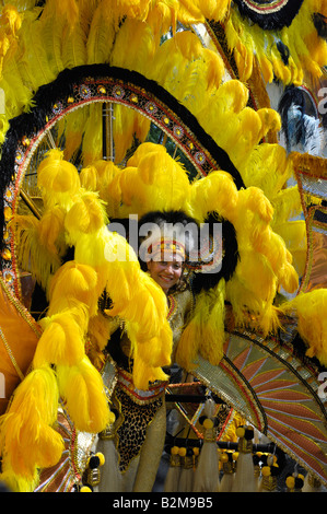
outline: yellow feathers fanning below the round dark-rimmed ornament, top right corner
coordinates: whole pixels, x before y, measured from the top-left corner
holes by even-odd
[[[326,2],[304,0],[290,26],[280,31],[262,31],[259,25],[231,10],[225,22],[225,35],[233,50],[240,78],[247,81],[258,60],[266,83],[277,78],[284,84],[301,85],[305,79],[319,79],[327,61],[327,44],[318,36],[313,14],[326,16]],[[283,62],[277,43],[289,49],[288,63]]]

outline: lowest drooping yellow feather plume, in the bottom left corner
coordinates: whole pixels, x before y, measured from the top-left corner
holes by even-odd
[[[57,419],[59,392],[54,370],[32,371],[15,389],[0,420],[0,451],[4,470],[35,480],[36,468],[58,463],[63,441],[51,425]]]

